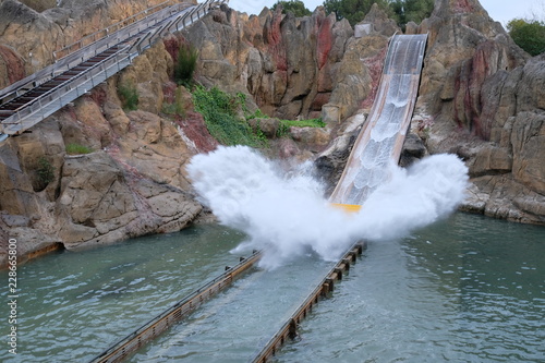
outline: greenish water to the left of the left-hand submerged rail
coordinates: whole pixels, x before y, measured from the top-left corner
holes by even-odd
[[[1,362],[86,362],[238,263],[244,234],[220,226],[53,253],[17,269],[17,355]],[[8,281],[8,271],[1,271]],[[8,301],[2,289],[0,299]],[[0,304],[0,316],[8,316]],[[8,336],[9,327],[1,324]]]

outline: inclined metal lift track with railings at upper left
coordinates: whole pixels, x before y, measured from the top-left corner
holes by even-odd
[[[225,3],[228,0],[197,5],[166,1],[114,24],[113,33],[107,28],[59,50],[53,64],[0,90],[0,142],[39,123],[130,65],[168,33],[192,25]]]

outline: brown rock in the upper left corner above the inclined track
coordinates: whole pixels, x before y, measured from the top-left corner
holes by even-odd
[[[57,8],[40,13],[17,0],[0,2],[0,88],[51,64],[55,51],[164,1],[58,2]],[[12,52],[17,55],[16,62]],[[24,69],[24,74],[21,69]],[[5,77],[7,74],[11,76]]]

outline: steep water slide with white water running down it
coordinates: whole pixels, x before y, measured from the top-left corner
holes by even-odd
[[[389,179],[389,164],[397,164],[411,123],[427,34],[395,35],[390,40],[380,85],[344,171],[329,197],[334,204],[358,209]]]

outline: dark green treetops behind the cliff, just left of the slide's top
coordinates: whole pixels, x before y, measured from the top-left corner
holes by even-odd
[[[391,15],[392,11],[387,0],[325,0],[324,8],[326,13],[335,13],[337,20],[347,19],[350,25],[354,26],[365,17],[374,3]]]

